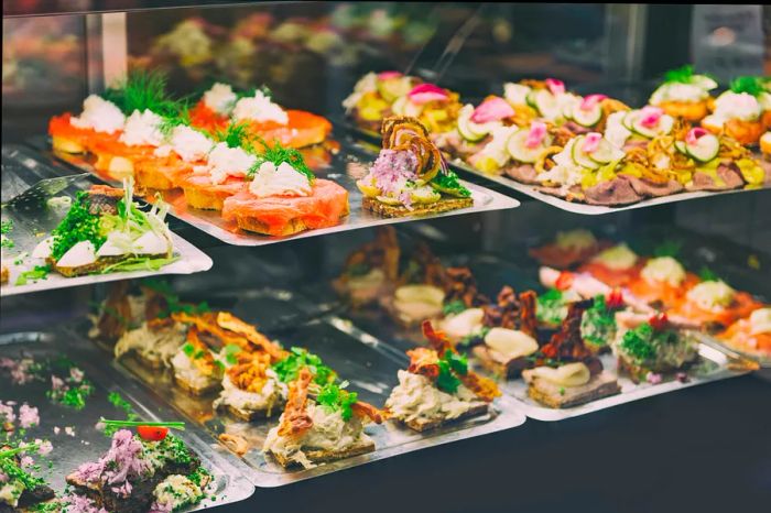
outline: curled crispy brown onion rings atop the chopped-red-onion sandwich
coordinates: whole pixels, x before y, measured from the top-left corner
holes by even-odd
[[[428,182],[443,167],[442,153],[431,142],[428,132],[416,118],[395,116],[386,118],[381,128],[384,150],[408,151],[417,159],[415,173]]]

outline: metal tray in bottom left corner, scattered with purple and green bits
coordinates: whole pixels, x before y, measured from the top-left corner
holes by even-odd
[[[66,351],[63,351],[63,348],[66,348]],[[55,334],[24,332],[0,336],[0,354],[15,358],[29,354],[37,361],[66,356],[95,385],[94,395],[86,400],[83,410],[77,411],[45,397],[46,391],[51,389],[50,380],[14,385],[8,374],[0,373],[3,401],[15,401],[18,404],[26,402],[39,408],[40,425],[28,429],[25,439],[43,438],[53,444],[54,449],[46,458],[52,465],[42,471],[42,477],[59,493],[66,484],[65,476],[77,469],[80,463],[98,459],[110,446],[109,438],[95,427],[100,416],[122,418],[121,415],[124,415],[107,400],[109,392],[120,393],[132,404],[134,411],[149,422],[178,419],[169,408],[154,402],[141,386],[127,379],[118,368],[104,364],[104,353],[99,348],[83,339],[72,338],[61,330]],[[54,427],[61,429],[58,434],[55,434]],[[72,427],[74,435],[67,435],[65,427]],[[254,492],[254,487],[243,478],[243,465],[217,444],[204,441],[207,438],[205,433],[188,424],[185,432],[180,432],[180,436],[200,456],[203,465],[214,476],[206,499],[186,511],[242,501]]]

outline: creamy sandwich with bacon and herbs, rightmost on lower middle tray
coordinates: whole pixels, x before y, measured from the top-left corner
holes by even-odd
[[[408,351],[410,367],[399,371],[399,384],[386,401],[389,415],[417,432],[489,412],[500,395],[498,385],[468,368],[442,331],[430,321],[423,332],[431,348]]]

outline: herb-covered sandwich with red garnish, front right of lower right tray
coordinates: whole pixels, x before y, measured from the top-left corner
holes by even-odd
[[[662,374],[687,370],[698,359],[693,335],[672,325],[666,314],[619,313],[612,342],[619,369],[636,383],[661,381]]]

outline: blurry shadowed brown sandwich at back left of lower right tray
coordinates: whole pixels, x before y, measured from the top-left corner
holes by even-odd
[[[391,294],[399,277],[401,249],[393,227],[378,227],[372,242],[348,255],[343,273],[333,282],[335,291],[355,308]]]

